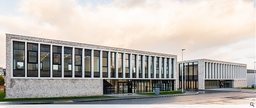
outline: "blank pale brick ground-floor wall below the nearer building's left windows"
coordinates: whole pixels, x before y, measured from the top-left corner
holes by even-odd
[[[17,79],[10,80],[6,98],[46,98],[103,95],[102,79]]]

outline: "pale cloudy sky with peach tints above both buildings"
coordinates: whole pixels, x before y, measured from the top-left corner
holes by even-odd
[[[255,0],[1,0],[0,67],[18,34],[178,55],[255,61]]]

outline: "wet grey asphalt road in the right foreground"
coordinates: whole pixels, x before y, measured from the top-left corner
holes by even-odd
[[[255,92],[199,91],[198,95],[96,102],[58,104],[250,104],[256,102]]]

